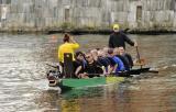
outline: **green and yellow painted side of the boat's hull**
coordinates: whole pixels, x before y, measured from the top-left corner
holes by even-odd
[[[123,81],[123,77],[96,77],[88,79],[62,79],[59,82],[61,88],[84,88],[84,87],[97,87],[110,83],[118,83]]]

